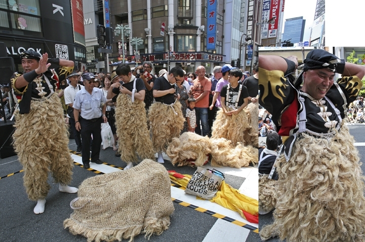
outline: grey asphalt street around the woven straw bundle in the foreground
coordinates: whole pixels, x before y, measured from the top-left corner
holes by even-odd
[[[74,140],[70,139],[70,150],[75,151]],[[114,156],[115,151],[108,148],[101,151],[100,159],[117,167],[125,167],[119,157]],[[73,156],[75,157],[75,156]],[[76,157],[77,158],[77,157]],[[74,160],[76,159],[74,158]],[[91,163],[93,164],[93,163]],[[105,165],[104,165],[105,166]],[[165,160],[167,170],[175,170],[181,174],[192,175],[196,168],[193,167],[173,167],[171,162]],[[233,170],[232,170],[233,169]],[[234,174],[232,168],[230,174]],[[253,168],[246,168],[254,170]],[[45,212],[34,214],[33,208],[36,202],[30,201],[23,186],[22,166],[17,156],[0,159],[0,241],[6,242],[86,242],[82,236],[74,236],[63,228],[63,221],[70,217],[73,210],[70,202],[77,197],[77,194],[62,193],[58,190],[58,184],[52,183],[51,190],[46,197]],[[245,170],[248,171],[248,170]],[[5,177],[9,174],[12,176]],[[227,172],[229,173],[229,172]],[[239,189],[244,184],[246,178],[235,175],[225,174],[226,182],[232,187]],[[73,168],[72,186],[79,186],[82,181],[89,177],[98,176],[92,171],[83,169],[78,165]],[[257,186],[257,185],[256,185]],[[256,188],[257,189],[257,188]],[[190,195],[188,195],[190,196]],[[208,202],[207,206],[214,205]],[[151,236],[150,241],[156,242],[257,242],[259,236],[253,230],[246,229],[226,222],[210,214],[198,212],[194,209],[184,207],[174,203],[175,212],[170,217],[171,224],[168,230],[160,236]],[[226,214],[224,214],[226,215]],[[257,225],[256,225],[257,226]],[[126,240],[123,240],[126,241]],[[141,234],[134,239],[135,242],[146,242],[144,235]]]

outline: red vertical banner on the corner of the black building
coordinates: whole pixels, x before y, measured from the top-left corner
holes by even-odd
[[[82,0],[71,0],[73,41],[85,46],[84,13]]]

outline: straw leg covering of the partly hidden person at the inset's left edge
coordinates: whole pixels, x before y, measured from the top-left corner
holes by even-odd
[[[268,213],[276,205],[276,180],[268,179],[268,175],[258,175],[258,212]]]

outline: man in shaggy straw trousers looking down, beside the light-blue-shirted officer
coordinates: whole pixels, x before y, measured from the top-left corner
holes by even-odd
[[[118,94],[115,106],[116,134],[119,137],[121,160],[127,162],[124,170],[138,162],[137,153],[142,159],[154,159],[152,142],[147,129],[145,110],[146,87],[141,78],[131,73],[128,64],[119,64],[115,73],[122,80],[113,83],[108,90],[107,99]]]

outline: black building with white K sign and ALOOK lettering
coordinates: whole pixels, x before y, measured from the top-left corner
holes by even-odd
[[[17,71],[23,71],[25,50],[73,60],[76,70],[84,70],[84,36],[81,0],[0,0],[0,42]]]

